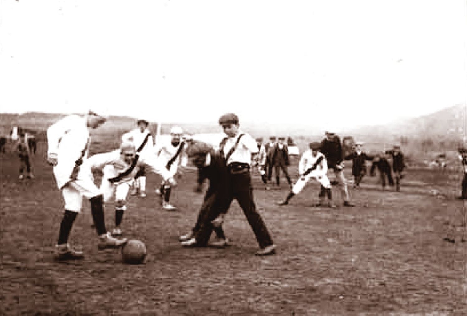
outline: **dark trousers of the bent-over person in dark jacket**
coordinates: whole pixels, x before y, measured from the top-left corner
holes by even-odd
[[[196,224],[192,229],[199,246],[205,246],[207,244],[212,231],[216,232],[218,238],[226,238],[224,229],[222,229],[222,227],[214,227],[211,223],[221,212],[226,211],[221,207],[219,202],[215,191],[208,190],[206,192],[203,204],[198,212]]]

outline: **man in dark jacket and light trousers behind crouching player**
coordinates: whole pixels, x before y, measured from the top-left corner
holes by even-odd
[[[339,185],[342,186],[344,195],[344,206],[355,206],[350,203],[347,180],[344,176],[344,153],[339,136],[334,133],[326,132],[326,138],[321,142],[321,152],[325,155],[329,169],[334,170]]]

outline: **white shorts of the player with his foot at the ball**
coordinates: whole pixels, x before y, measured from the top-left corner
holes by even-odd
[[[91,177],[70,181],[62,188],[65,210],[79,212],[81,211],[83,197],[92,198],[97,197],[99,194],[101,194],[100,190]]]

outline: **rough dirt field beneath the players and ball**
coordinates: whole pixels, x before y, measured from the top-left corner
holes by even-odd
[[[310,207],[316,185],[275,206],[287,194],[285,179],[282,190],[264,190],[255,175],[257,206],[278,246],[259,258],[237,203],[225,225],[232,246],[179,246],[203,197],[188,172],[173,195],[180,211],[162,210],[154,193],[130,200],[123,228],[145,242],[146,264],[98,251],[88,203],[70,239],[85,260],[58,263],[63,204],[43,149],[34,180],[18,180],[15,156],[0,157],[0,315],[467,315],[466,215],[450,191],[459,177],[409,172],[402,192],[383,192],[367,176],[360,189],[349,186],[356,207],[342,207],[336,188],[340,207],[328,209]],[[149,176],[150,191],[157,181]],[[431,188],[451,194],[430,196]],[[108,227],[113,218],[108,204]]]

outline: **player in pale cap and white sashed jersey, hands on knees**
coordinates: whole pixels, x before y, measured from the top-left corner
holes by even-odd
[[[170,129],[170,140],[159,140],[155,146],[157,159],[162,163],[170,174],[170,183],[175,183],[174,176],[181,176],[181,172],[177,172],[178,165],[186,167],[188,156],[186,154],[187,144],[183,137],[183,130],[178,126],[173,126]],[[162,196],[162,207],[164,210],[175,211],[177,207],[169,203],[171,187],[169,182],[163,181],[161,188],[156,190],[156,193]]]

